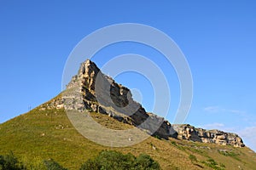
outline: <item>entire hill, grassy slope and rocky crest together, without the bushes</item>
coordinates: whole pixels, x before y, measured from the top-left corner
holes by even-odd
[[[69,117],[73,112],[91,117],[102,127],[114,131],[124,133],[124,130],[136,128],[149,135],[135,144],[131,144],[135,139],[125,136],[128,144],[123,147],[99,144],[81,135]],[[82,124],[87,122],[82,120]],[[97,139],[110,135],[93,131],[90,125],[87,127]],[[62,167],[76,170],[102,150],[134,156],[146,154],[166,170],[251,170],[256,165],[255,152],[247,148],[237,134],[188,124],[173,125],[148,113],[132,99],[129,88],[104,75],[90,60],[81,64],[78,74],[61,94],[0,124],[0,146],[2,163],[12,150],[27,169],[46,170],[42,161],[54,160]]]

